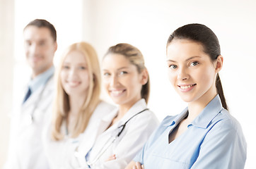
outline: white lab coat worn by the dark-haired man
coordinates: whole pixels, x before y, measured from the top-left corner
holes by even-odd
[[[53,77],[51,77],[45,84],[46,86],[42,85],[33,92],[24,104],[13,108],[5,169],[49,168],[42,148],[42,129],[47,120],[50,120],[49,113],[52,112],[53,81]],[[25,91],[27,91],[27,88],[25,88]],[[42,97],[39,101],[41,92]],[[23,98],[19,100],[19,103],[22,103]],[[37,101],[39,103],[33,113],[33,123],[28,125],[29,114],[33,111]]]

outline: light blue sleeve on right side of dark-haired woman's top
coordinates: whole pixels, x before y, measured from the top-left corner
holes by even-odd
[[[247,145],[239,123],[216,123],[206,134],[192,168],[244,168]]]

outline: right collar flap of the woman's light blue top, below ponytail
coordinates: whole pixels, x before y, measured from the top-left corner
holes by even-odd
[[[192,125],[202,128],[207,128],[216,115],[223,109],[221,104],[221,98],[217,94],[204,110],[192,121]]]

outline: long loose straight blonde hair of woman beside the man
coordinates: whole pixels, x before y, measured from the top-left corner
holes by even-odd
[[[55,73],[57,86],[53,106],[52,139],[56,141],[64,138],[64,133],[62,133],[61,128],[70,111],[69,96],[62,87],[60,73],[62,72],[64,59],[71,51],[80,51],[83,56],[86,57],[89,73],[88,95],[86,96],[83,106],[81,106],[80,111],[78,112],[74,129],[70,131],[71,137],[78,137],[79,134],[86,130],[91,115],[100,102],[100,65],[95,49],[93,49],[91,44],[86,42],[71,44],[71,46],[69,46],[62,55],[59,67]]]

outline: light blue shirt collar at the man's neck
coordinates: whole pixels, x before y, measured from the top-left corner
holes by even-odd
[[[31,79],[30,82],[28,82],[28,86],[30,87],[30,90],[32,92],[35,92],[42,85],[44,85],[49,80],[49,78],[52,77],[53,74],[54,74],[54,66],[46,70],[44,73],[37,75],[34,79]]]

